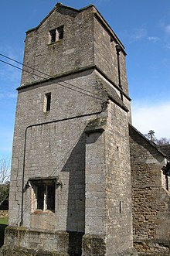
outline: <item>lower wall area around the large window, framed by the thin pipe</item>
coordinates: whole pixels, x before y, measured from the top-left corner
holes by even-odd
[[[25,179],[57,177],[60,185],[56,185],[56,211],[50,214],[34,213],[28,207],[31,187],[26,190],[24,227],[84,232],[84,123],[77,118],[29,129]]]

